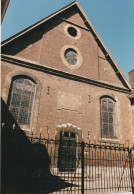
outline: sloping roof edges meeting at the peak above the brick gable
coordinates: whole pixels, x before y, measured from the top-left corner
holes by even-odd
[[[81,9],[80,5],[78,4],[78,2],[74,1],[72,3],[70,3],[69,5],[63,7],[62,9],[54,12],[53,14],[49,15],[48,17],[40,20],[39,22],[31,25],[30,27],[22,30],[21,32],[15,34],[14,36],[4,40],[1,43],[1,46],[4,47],[5,45],[11,43],[12,41],[14,41],[15,39],[19,38],[20,36],[23,36],[24,34],[26,34],[27,32],[37,28],[38,26],[40,26],[41,24],[45,23],[46,21],[51,20],[52,18],[54,18],[55,16],[57,16],[58,14],[66,11],[67,9],[76,6],[78,8],[78,10],[80,11],[80,14],[85,22],[85,25],[87,26],[87,29],[89,29],[92,33],[92,35],[94,36],[95,40],[98,42],[99,46],[101,47],[105,57],[107,58],[107,60],[111,63],[112,67],[114,68],[117,76],[124,82],[124,84],[126,85],[126,87],[128,89],[131,90],[131,85],[129,84],[129,82],[127,81],[126,77],[124,76],[124,74],[122,73],[121,69],[119,68],[119,66],[117,65],[117,63],[115,62],[114,58],[112,57],[112,55],[110,54],[110,52],[108,51],[108,49],[106,48],[106,46],[104,45],[103,41],[101,40],[101,38],[99,37],[99,35],[97,34],[96,30],[94,29],[93,25],[91,24],[91,22],[89,21],[89,19],[87,18],[87,16],[85,15],[84,11]]]

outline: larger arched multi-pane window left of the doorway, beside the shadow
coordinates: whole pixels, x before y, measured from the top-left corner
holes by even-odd
[[[8,106],[20,126],[30,128],[35,89],[35,83],[27,77],[17,76],[12,79]]]

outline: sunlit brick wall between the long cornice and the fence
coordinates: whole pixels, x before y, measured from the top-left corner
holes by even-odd
[[[39,136],[39,129],[42,128],[42,135],[47,137],[48,126],[50,138],[54,138],[57,125],[71,123],[82,129],[85,141],[87,141],[88,131],[90,131],[91,137],[95,136],[96,139],[100,139],[100,96],[113,95],[117,100],[118,140],[121,142],[123,140],[133,141],[131,106],[127,98],[128,94],[71,81],[6,62],[2,63],[2,94],[5,77],[11,71],[32,73],[42,84],[36,135]],[[50,86],[49,95],[47,94],[48,86]],[[69,99],[68,108],[62,104],[65,101],[61,94],[66,101]],[[70,97],[68,97],[69,95]],[[88,102],[88,95],[90,95],[91,103]],[[71,103],[75,102],[74,99],[77,103],[72,105]]]

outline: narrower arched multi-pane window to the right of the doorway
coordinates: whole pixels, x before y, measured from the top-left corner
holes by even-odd
[[[116,102],[107,96],[101,98],[101,136],[117,138]]]

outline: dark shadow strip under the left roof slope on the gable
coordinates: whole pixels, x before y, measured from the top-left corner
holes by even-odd
[[[64,19],[68,19],[77,11],[74,9],[66,10],[65,13],[60,13],[57,17],[52,18],[46,22],[43,22],[39,26],[33,28],[32,30],[28,31],[24,35],[19,36],[19,38],[15,38],[9,44],[5,44],[2,46],[1,52],[7,55],[16,55],[20,53],[24,49],[27,49],[28,46],[33,45],[34,43],[38,42],[43,38],[43,35],[50,30],[54,29],[56,26],[60,25]],[[24,30],[25,31],[25,30]]]

